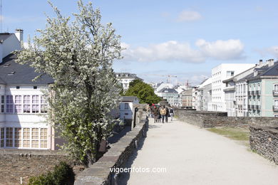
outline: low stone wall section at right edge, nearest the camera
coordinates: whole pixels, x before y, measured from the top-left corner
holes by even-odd
[[[277,127],[256,127],[250,128],[251,149],[262,154],[267,159],[278,164],[278,129]]]

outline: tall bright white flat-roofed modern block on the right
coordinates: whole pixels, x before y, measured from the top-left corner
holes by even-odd
[[[222,81],[252,67],[254,67],[254,64],[251,63],[222,63],[212,68],[212,102],[208,105],[210,111],[227,111],[224,92],[225,84]]]

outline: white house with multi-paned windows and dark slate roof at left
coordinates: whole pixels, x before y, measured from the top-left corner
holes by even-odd
[[[41,90],[53,79],[38,75],[29,65],[15,62],[12,51],[21,49],[23,31],[0,33],[0,138],[1,148],[55,149],[54,132],[46,122],[46,100]]]

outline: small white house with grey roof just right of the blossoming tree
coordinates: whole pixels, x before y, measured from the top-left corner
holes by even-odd
[[[136,96],[122,96],[120,97],[120,120],[133,119],[133,104],[138,104],[139,99]]]

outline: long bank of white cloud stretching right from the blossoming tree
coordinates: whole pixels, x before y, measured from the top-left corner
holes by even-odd
[[[243,58],[244,45],[240,40],[218,40],[207,42],[203,39],[196,41],[192,48],[190,43],[178,41],[167,41],[165,43],[151,44],[148,47],[133,48],[127,43],[122,43],[125,49],[123,56],[125,60],[139,62],[155,61],[180,61],[185,63],[202,63],[212,58],[215,60],[233,60]]]

